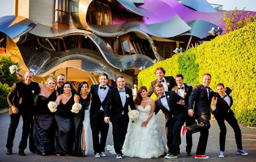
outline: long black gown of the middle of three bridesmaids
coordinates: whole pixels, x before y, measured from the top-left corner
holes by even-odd
[[[71,112],[73,104],[74,95],[72,95],[66,104],[60,103],[55,114],[55,153],[61,155],[70,154],[72,144],[74,143],[73,133],[71,131],[74,116],[74,113]]]

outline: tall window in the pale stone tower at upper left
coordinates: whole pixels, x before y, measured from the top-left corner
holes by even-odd
[[[69,24],[70,0],[54,0],[54,22]]]

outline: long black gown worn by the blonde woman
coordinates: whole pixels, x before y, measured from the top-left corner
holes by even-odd
[[[50,112],[47,104],[50,101],[56,101],[56,98],[55,90],[48,98],[43,95],[38,95],[34,116],[34,139],[36,151],[40,154],[54,152],[54,113]]]

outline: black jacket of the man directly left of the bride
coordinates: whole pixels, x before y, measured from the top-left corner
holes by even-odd
[[[125,87],[126,93],[126,102],[125,106],[123,107],[120,94],[118,92],[118,88],[114,88],[109,91],[107,101],[105,104],[104,116],[109,117],[109,120],[112,123],[117,123],[121,118],[122,112],[124,111],[124,118],[129,122],[128,117],[128,106],[130,105],[132,110],[135,110],[135,104],[133,102],[133,95],[132,90],[130,88]]]

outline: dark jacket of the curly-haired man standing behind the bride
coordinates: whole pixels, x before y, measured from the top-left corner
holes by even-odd
[[[176,82],[175,82],[175,79],[173,78],[173,76],[164,77],[164,78],[165,78],[165,80],[167,82],[167,85],[168,85],[168,91],[171,91],[171,89],[177,85]],[[151,82],[149,90],[147,91],[147,96],[148,97],[150,97],[153,94],[153,92],[156,94],[156,97],[158,97],[158,94],[156,93],[156,88],[155,88],[155,85],[157,83],[159,83],[158,79]]]

